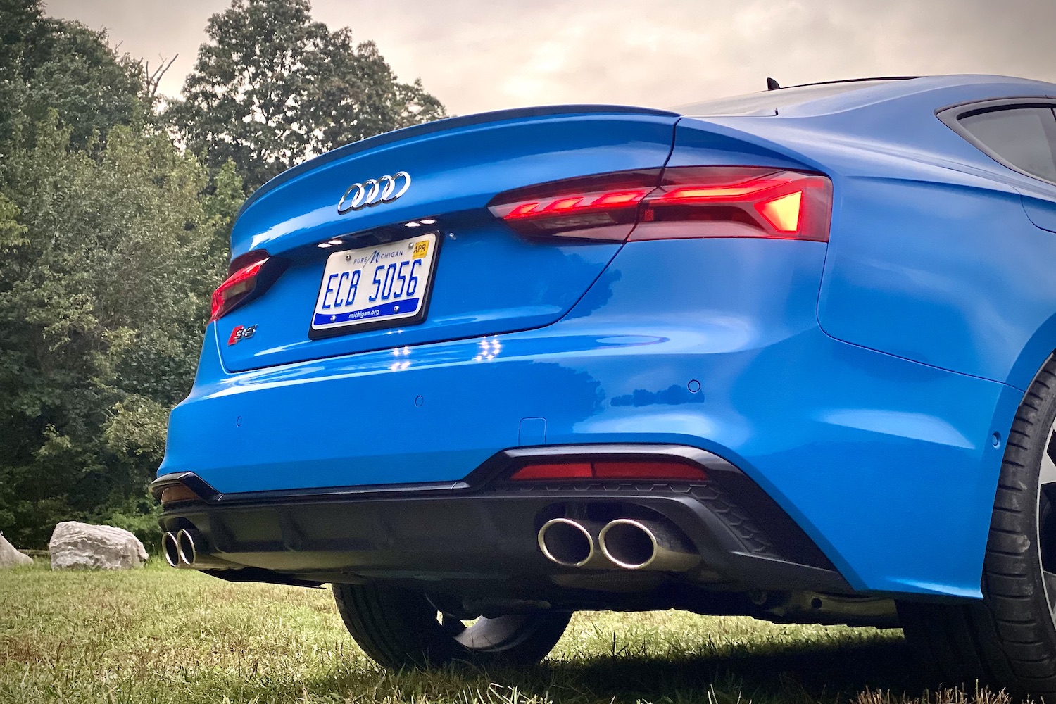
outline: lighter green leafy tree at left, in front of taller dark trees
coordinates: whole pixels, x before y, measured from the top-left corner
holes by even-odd
[[[156,531],[146,484],[190,388],[240,202],[167,136],[113,127],[76,149],[51,111],[0,198],[0,531],[58,520]]]

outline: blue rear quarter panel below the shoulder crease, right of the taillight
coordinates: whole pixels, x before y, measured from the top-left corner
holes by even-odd
[[[1056,234],[1015,191],[958,180],[843,179],[818,319],[837,339],[1024,388],[1052,351],[1027,348],[1056,310]]]

